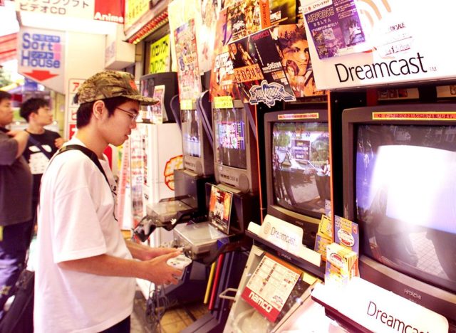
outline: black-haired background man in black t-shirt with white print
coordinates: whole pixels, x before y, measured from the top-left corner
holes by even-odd
[[[30,98],[21,105],[20,115],[28,122],[28,143],[23,156],[33,174],[32,213],[36,214],[41,176],[49,160],[62,147],[63,138],[57,132],[44,127],[53,122],[48,101],[43,98]]]

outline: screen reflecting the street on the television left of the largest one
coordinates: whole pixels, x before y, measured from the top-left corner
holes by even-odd
[[[325,213],[331,200],[327,122],[275,122],[272,127],[274,203],[298,213]]]

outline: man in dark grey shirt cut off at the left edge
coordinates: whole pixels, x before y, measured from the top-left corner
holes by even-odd
[[[33,229],[32,176],[22,157],[28,133],[6,129],[12,121],[11,95],[0,91],[0,318],[24,268]]]

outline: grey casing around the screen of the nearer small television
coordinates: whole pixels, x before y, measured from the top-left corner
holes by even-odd
[[[217,147],[219,145],[216,138],[217,122],[214,119],[216,107],[212,104],[212,131],[214,132],[214,173],[217,183],[228,185],[237,191],[243,193],[257,193],[259,191],[258,179],[258,159],[257,159],[257,142],[249,125],[247,110],[241,100],[233,101],[233,109],[242,109],[244,111],[245,124],[245,153],[247,159],[246,169],[236,168],[217,162]]]

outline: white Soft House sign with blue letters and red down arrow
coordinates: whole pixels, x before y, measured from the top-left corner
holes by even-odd
[[[63,90],[65,33],[21,28],[18,33],[18,71],[58,93]]]

